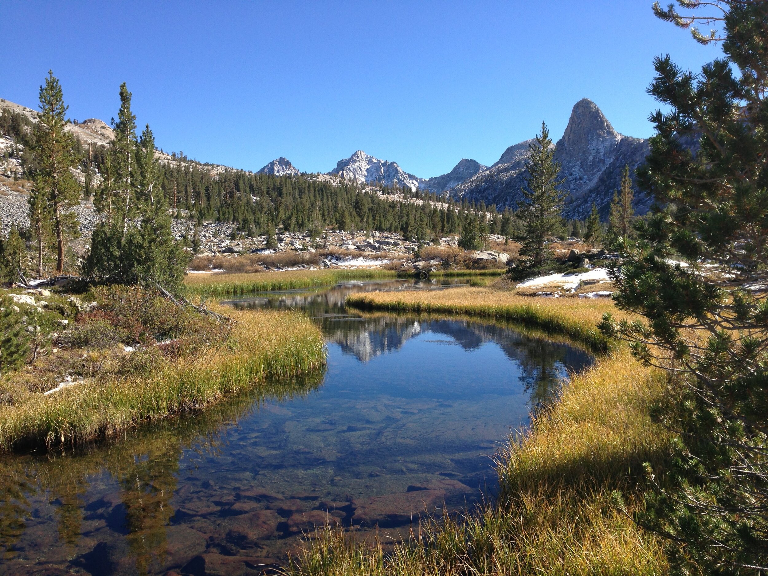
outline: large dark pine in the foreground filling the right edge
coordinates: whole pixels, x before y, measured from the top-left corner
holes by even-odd
[[[683,8],[710,3],[678,0]],[[724,57],[698,74],[654,62],[652,115],[638,184],[656,205],[622,243],[614,299],[644,322],[604,319],[609,336],[670,373],[654,408],[674,432],[638,519],[667,538],[678,574],[768,571],[768,3],[727,0]],[[717,18],[660,18],[688,28]],[[707,15],[708,16],[708,15]],[[716,41],[717,32],[694,38]],[[690,143],[697,141],[697,147]]]

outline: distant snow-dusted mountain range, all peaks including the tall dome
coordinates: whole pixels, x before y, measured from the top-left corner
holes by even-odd
[[[408,174],[396,162],[379,160],[362,150],[340,160],[328,174],[360,184],[418,188],[449,194],[456,200],[482,200],[487,205],[495,204],[499,209],[514,209],[522,198],[521,187],[528,177],[525,164],[530,144],[531,140],[513,144],[490,167],[462,158],[448,174],[428,179]],[[565,179],[561,188],[571,193],[565,214],[580,219],[587,217],[592,203],[597,205],[601,214],[607,215],[624,166],[634,170],[648,154],[647,140],[619,134],[600,108],[587,98],[574,105],[568,127],[554,147],[555,160],[561,164],[561,177]],[[277,164],[280,168],[275,167]],[[279,158],[259,171],[277,175],[298,173],[298,170],[281,173],[283,166],[296,170],[285,158]],[[647,212],[651,200],[636,193],[634,207],[637,213]]]

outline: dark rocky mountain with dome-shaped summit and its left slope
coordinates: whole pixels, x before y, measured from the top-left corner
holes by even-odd
[[[496,164],[459,184],[452,194],[471,201],[483,200],[497,207],[516,208],[528,176],[525,162],[530,142],[508,147]],[[601,214],[607,214],[624,166],[634,170],[647,153],[646,140],[619,134],[594,102],[587,98],[578,101],[563,137],[555,144],[554,153],[555,160],[561,164],[561,177],[565,179],[561,187],[571,192],[564,210],[566,216],[587,217],[593,202]],[[638,214],[647,212],[650,203],[650,198],[636,191]]]

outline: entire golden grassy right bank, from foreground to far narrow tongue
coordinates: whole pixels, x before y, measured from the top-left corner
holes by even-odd
[[[531,299],[490,290],[356,296],[379,310],[524,320],[594,345],[610,301]],[[353,535],[322,531],[294,558],[295,575],[664,574],[660,542],[638,528],[642,463],[664,458],[667,434],[650,421],[663,376],[612,349],[573,376],[561,398],[498,455],[498,497],[464,517],[422,525],[385,553]],[[621,492],[628,510],[615,503]],[[627,515],[627,512],[629,514]]]

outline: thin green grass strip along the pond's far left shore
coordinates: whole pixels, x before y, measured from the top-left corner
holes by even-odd
[[[238,296],[267,290],[312,288],[344,280],[386,280],[396,278],[392,270],[288,270],[243,274],[190,274],[184,279],[190,293],[200,296]]]

